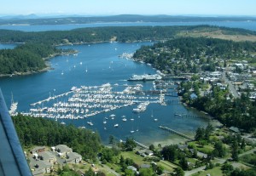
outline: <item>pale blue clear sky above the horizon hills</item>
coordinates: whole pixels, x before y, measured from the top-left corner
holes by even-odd
[[[256,0],[2,0],[0,14],[256,16]]]

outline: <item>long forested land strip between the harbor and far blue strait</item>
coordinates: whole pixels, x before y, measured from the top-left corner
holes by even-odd
[[[71,31],[9,31],[0,30],[0,43],[96,43],[160,41],[174,37],[180,31],[223,31],[225,34],[255,35],[255,31],[217,26],[110,26],[80,28]]]

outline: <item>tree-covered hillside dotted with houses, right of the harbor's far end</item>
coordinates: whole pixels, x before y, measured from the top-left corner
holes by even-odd
[[[181,37],[143,46],[134,54],[137,60],[154,65],[161,71],[178,75],[182,72],[215,71],[219,60],[255,60],[256,43],[233,42],[217,38]],[[254,61],[255,62],[255,61]]]

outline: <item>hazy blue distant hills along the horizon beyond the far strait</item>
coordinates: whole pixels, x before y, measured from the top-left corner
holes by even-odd
[[[256,17],[250,16],[172,16],[172,15],[138,15],[120,14],[113,16],[48,16],[42,17],[36,14],[3,16],[0,17],[0,25],[67,25],[108,22],[202,22],[202,21],[256,21]]]

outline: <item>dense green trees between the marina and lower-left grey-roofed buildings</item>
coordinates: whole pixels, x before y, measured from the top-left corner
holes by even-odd
[[[73,125],[61,125],[58,122],[32,116],[13,116],[15,129],[23,146],[67,145],[84,159],[95,159],[101,150],[98,133],[88,129],[79,129]]]

